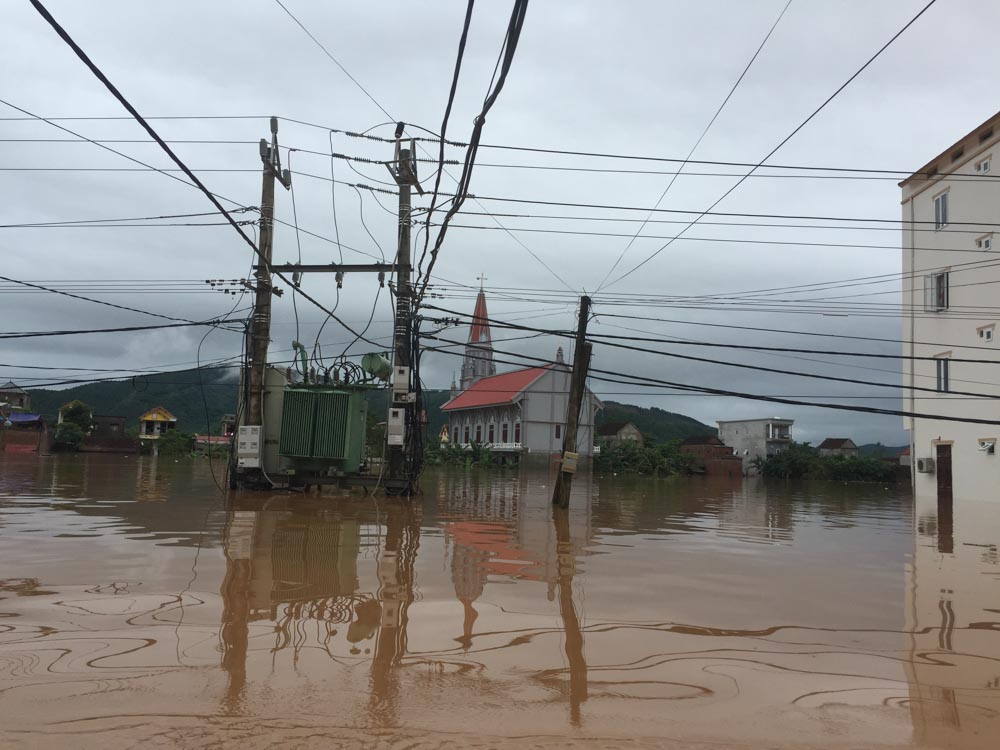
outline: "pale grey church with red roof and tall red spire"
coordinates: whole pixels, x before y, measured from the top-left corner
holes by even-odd
[[[562,451],[571,368],[560,347],[556,361],[497,374],[486,295],[476,298],[458,387],[441,409],[448,438],[456,445],[479,443],[497,453],[549,455]],[[577,432],[577,452],[594,453],[594,418],[603,407],[586,389]]]

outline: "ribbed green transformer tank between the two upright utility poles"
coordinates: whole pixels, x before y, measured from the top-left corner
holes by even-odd
[[[344,476],[361,468],[367,429],[364,386],[285,388],[278,453],[299,474]]]

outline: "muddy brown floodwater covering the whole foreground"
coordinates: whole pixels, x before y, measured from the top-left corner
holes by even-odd
[[[547,485],[0,456],[0,747],[1000,746],[997,506],[942,545],[877,485]]]

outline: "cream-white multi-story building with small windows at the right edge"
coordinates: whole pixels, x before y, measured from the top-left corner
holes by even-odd
[[[903,353],[926,358],[904,359],[904,408],[1000,423],[1000,113],[900,187]],[[936,500],[950,524],[953,500],[1000,500],[1000,425],[904,421],[918,512]]]

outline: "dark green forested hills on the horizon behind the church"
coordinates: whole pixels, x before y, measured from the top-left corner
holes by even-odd
[[[88,383],[64,390],[29,390],[31,405],[36,412],[55,421],[59,407],[79,399],[94,407],[98,414],[125,417],[129,426],[138,425],[141,414],[162,406],[177,417],[178,429],[184,432],[204,433],[207,424],[218,433],[223,414],[236,412],[239,383],[233,368],[203,368],[199,383],[198,370],[144,375],[128,380]],[[368,399],[368,413],[375,421],[385,419],[388,409],[386,391],[374,391]],[[425,390],[424,408],[427,412],[427,434],[437,435],[446,421],[441,406],[450,398],[445,390]],[[606,422],[632,422],[643,433],[658,441],[686,438],[692,435],[714,435],[715,428],[702,424],[683,414],[674,414],[654,407],[633,406],[616,401],[605,401],[598,412],[597,424]],[[886,449],[889,450],[889,449]]]

